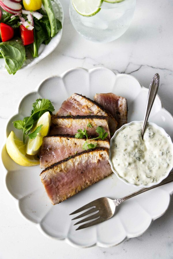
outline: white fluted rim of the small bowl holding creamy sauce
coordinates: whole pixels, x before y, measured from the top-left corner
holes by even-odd
[[[119,128],[119,129],[116,130],[116,132],[114,133],[113,137],[112,137],[111,140],[110,140],[109,163],[110,163],[110,166],[111,166],[112,171],[113,171],[113,172],[116,174],[116,176],[117,176],[121,181],[123,181],[125,184],[131,185],[131,186],[133,186],[133,187],[138,187],[138,188],[149,188],[149,187],[154,186],[154,185],[157,185],[157,184],[159,184],[161,181],[163,181],[163,180],[169,175],[169,173],[170,173],[170,171],[171,171],[172,169],[171,169],[171,170],[168,169],[167,172],[166,172],[166,174],[165,174],[165,176],[161,177],[157,182],[153,182],[153,183],[150,183],[150,184],[148,184],[148,185],[144,185],[144,184],[136,185],[136,184],[132,184],[132,183],[130,183],[130,182],[127,182],[123,177],[121,177],[121,176],[119,175],[118,171],[116,171],[116,170],[114,169],[114,165],[113,165],[113,163],[112,163],[112,152],[111,152],[111,149],[112,149],[112,145],[113,145],[114,139],[116,138],[117,134],[118,134],[119,132],[121,132],[124,128],[129,127],[130,125],[136,124],[136,123],[143,123],[143,121],[131,121],[131,122],[126,123],[125,125],[121,126],[121,128]],[[151,125],[151,126],[157,128],[157,129],[159,129],[159,130],[162,132],[163,136],[166,136],[168,142],[171,144],[172,149],[173,149],[173,143],[172,143],[171,137],[166,133],[166,131],[165,131],[162,127],[159,127],[157,124],[155,124],[155,123],[153,123],[153,122],[148,122],[148,125]],[[145,134],[145,133],[144,133],[144,134]],[[172,167],[173,167],[173,164],[172,164]]]

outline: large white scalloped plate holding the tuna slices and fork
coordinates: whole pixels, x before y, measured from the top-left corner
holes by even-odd
[[[74,92],[90,98],[98,92],[122,95],[128,101],[128,121],[143,119],[148,89],[141,86],[135,77],[115,74],[103,67],[91,70],[76,68],[60,76],[47,78],[34,92],[20,100],[16,113],[7,122],[5,141],[11,130],[20,136],[12,121],[27,116],[37,98],[50,99],[55,110],[58,110],[61,103]],[[149,121],[163,127],[173,137],[173,117],[163,108],[158,95]],[[76,247],[111,247],[127,238],[143,234],[155,219],[166,212],[173,193],[173,183],[142,193],[121,204],[112,219],[75,231],[76,226],[73,226],[74,221],[71,221],[73,216],[69,216],[69,213],[99,197],[121,198],[136,191],[136,188],[125,184],[112,174],[53,206],[40,180],[42,169],[39,166],[17,165],[8,156],[5,145],[2,149],[2,161],[5,168],[5,186],[14,197],[20,214],[33,222],[44,235],[66,241]]]

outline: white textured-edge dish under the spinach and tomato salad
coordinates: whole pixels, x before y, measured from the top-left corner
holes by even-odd
[[[57,19],[59,19],[63,25],[63,20],[64,20],[64,13],[63,13],[63,8],[59,0],[53,0],[52,1],[52,6],[55,12],[55,16]],[[31,55],[28,56],[27,60],[23,63],[21,69],[26,69],[31,66],[34,66],[37,64],[40,60],[48,56],[59,44],[62,36],[62,29],[57,33],[56,36],[54,36],[51,41],[49,42],[48,45],[42,44],[39,48],[39,56],[38,58],[33,58]],[[20,69],[20,70],[21,70]],[[5,68],[5,62],[3,58],[0,59],[0,70],[1,71],[7,71]]]

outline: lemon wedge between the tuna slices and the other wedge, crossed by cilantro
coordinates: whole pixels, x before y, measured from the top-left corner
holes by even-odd
[[[43,137],[46,136],[49,132],[51,123],[51,117],[49,112],[45,112],[40,119],[37,121],[37,123],[33,126],[31,129],[31,133],[35,131],[35,129],[42,125],[40,132],[37,134],[36,138],[34,139],[28,139],[27,141],[27,147],[26,152],[28,155],[36,155],[40,147],[42,145]]]

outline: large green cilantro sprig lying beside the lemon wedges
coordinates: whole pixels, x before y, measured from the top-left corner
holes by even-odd
[[[25,117],[22,120],[13,121],[14,127],[16,129],[21,129],[23,132],[23,143],[27,136],[32,139],[36,138],[37,134],[40,132],[43,125],[38,126],[35,131],[29,133],[31,128],[33,127],[34,123],[38,121],[38,119],[45,113],[45,112],[52,112],[55,110],[51,101],[48,99],[37,99],[35,103],[33,103],[33,110],[31,111],[31,115]]]

